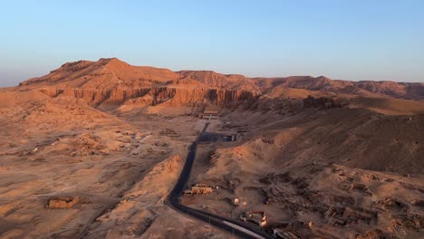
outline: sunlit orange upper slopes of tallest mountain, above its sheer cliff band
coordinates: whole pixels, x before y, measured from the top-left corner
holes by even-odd
[[[43,77],[20,83],[26,88],[53,86],[56,89],[149,88],[172,86],[182,88],[217,88],[226,90],[255,89],[255,81],[243,75],[220,74],[211,71],[172,72],[149,66],[133,66],[117,58],[102,58],[97,62],[64,63]]]

